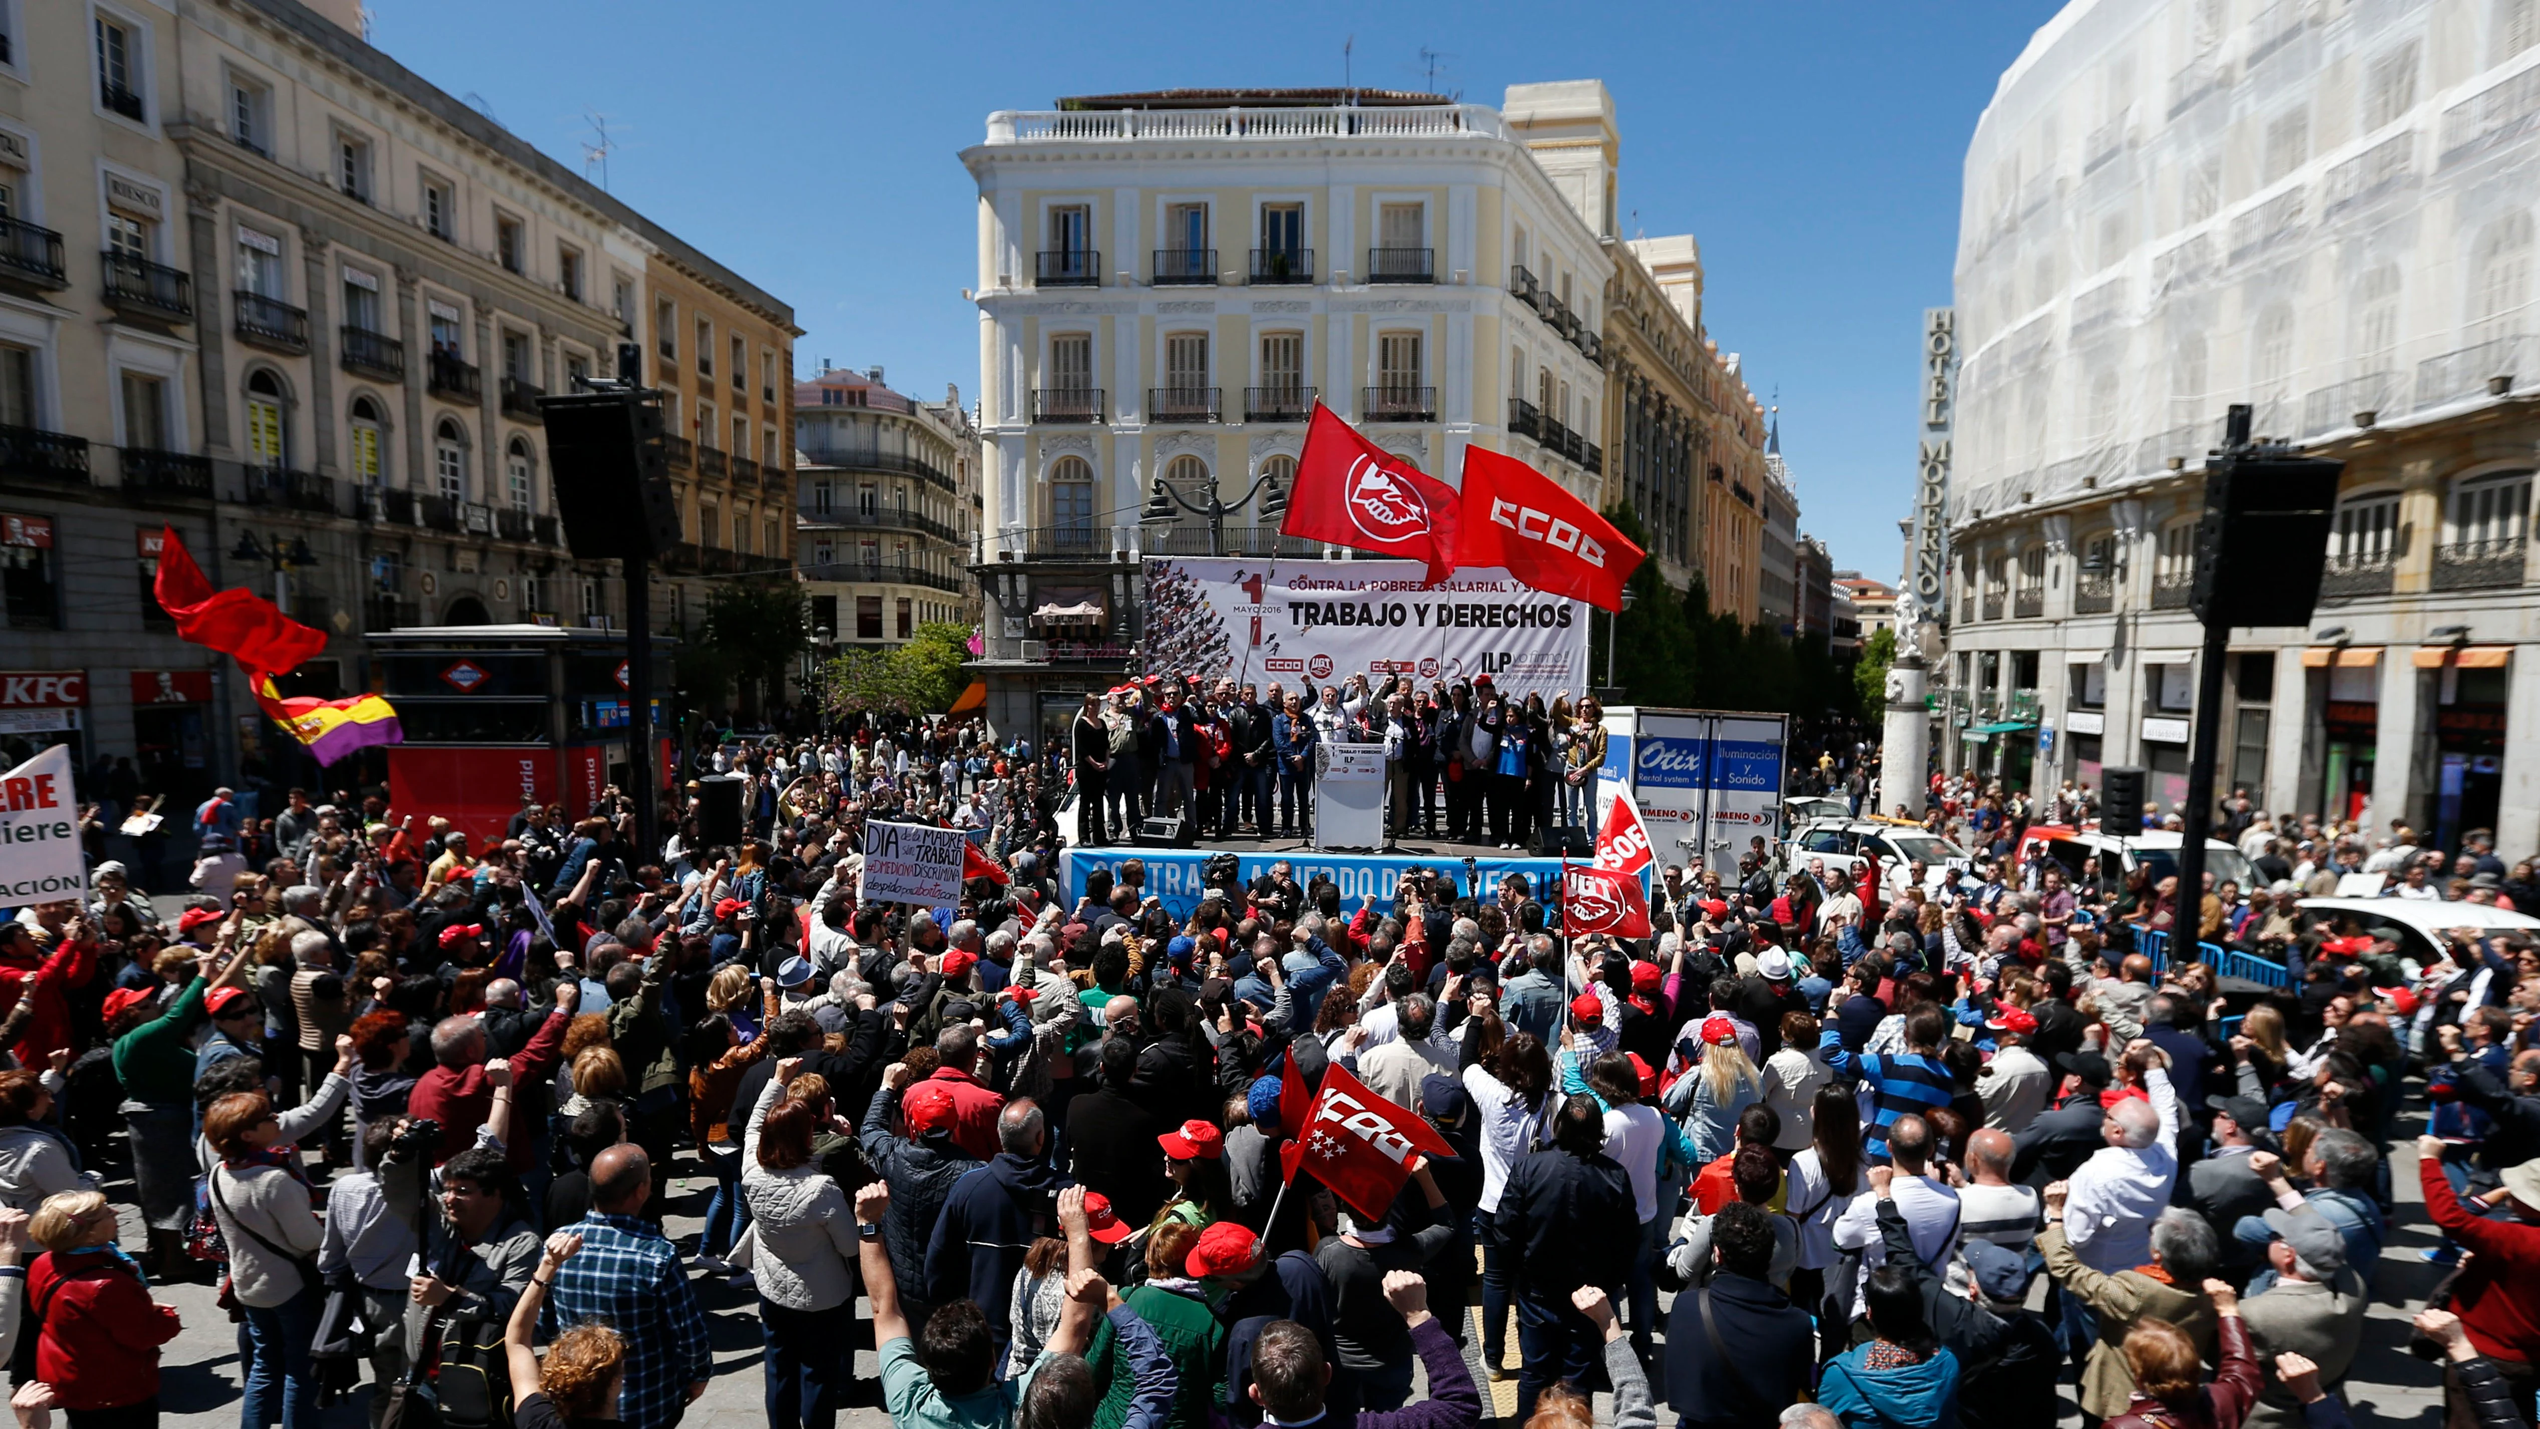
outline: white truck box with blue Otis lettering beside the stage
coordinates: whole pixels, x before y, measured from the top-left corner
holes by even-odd
[[[1737,859],[1781,834],[1788,720],[1725,709],[1605,709],[1595,826],[1623,788],[1648,826],[1659,865],[1709,867],[1737,880]],[[1593,831],[1593,829],[1590,829]]]

